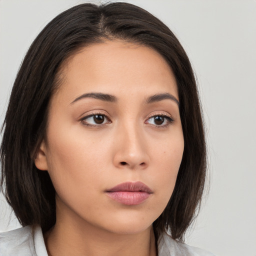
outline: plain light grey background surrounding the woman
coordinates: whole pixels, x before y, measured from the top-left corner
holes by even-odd
[[[15,74],[34,37],[56,14],[82,2],[86,1],[0,0],[0,123]],[[172,29],[198,78],[210,188],[186,242],[219,256],[255,256],[256,1],[129,2]],[[18,226],[13,215],[9,221],[9,214],[0,197],[0,231]]]

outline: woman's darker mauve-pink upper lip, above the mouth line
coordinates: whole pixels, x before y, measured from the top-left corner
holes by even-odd
[[[130,192],[142,191],[142,192],[152,193],[152,190],[147,185],[145,185],[140,181],[120,183],[106,190],[106,192],[116,192],[116,191],[130,191]]]

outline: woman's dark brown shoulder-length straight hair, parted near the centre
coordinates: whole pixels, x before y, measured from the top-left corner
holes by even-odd
[[[133,4],[84,3],[56,16],[35,38],[17,73],[2,126],[1,187],[19,222],[55,223],[55,190],[47,171],[34,165],[45,136],[49,100],[61,85],[61,64],[77,50],[105,40],[124,40],[153,48],[171,67],[180,101],[184,151],[171,198],[153,222],[155,234],[184,232],[200,205],[206,150],[196,82],[188,57],[175,35],[159,19]]]

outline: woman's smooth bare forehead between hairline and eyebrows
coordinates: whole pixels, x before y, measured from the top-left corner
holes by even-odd
[[[62,66],[60,92],[158,93],[178,98],[172,70],[154,49],[124,41],[104,41],[79,49]]]

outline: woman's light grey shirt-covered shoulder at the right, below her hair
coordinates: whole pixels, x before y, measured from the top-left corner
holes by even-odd
[[[167,234],[162,234],[158,239],[158,255],[214,256],[211,252],[174,240]]]

